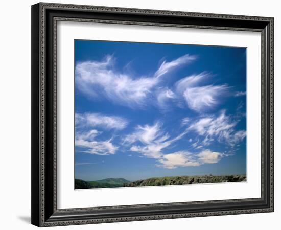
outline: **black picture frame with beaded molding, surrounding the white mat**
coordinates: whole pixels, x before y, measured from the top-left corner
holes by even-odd
[[[262,196],[57,209],[57,21],[258,31],[262,37]],[[32,6],[32,224],[74,224],[273,212],[273,18],[38,3]]]

